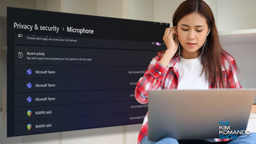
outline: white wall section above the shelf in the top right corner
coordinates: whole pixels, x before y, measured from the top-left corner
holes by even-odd
[[[217,0],[218,31],[256,28],[256,0]]]

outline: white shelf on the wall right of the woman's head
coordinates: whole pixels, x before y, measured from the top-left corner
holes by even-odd
[[[218,32],[220,44],[256,43],[256,28]]]

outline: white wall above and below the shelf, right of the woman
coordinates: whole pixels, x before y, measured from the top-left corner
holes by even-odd
[[[218,31],[256,28],[255,6],[256,0],[217,0]],[[256,40],[249,44],[227,44],[222,47],[236,60],[241,71],[241,86],[256,88]]]

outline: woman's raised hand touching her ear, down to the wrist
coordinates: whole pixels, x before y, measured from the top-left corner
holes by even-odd
[[[166,28],[163,37],[167,50],[172,52],[176,52],[178,50],[178,31],[176,28],[177,26]],[[175,40],[173,40],[173,34],[176,34]]]

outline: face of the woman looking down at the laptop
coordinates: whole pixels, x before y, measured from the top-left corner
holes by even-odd
[[[185,53],[197,54],[197,50],[205,42],[207,33],[206,19],[196,12],[184,16],[178,22],[178,38]],[[188,43],[194,43],[194,45]]]

